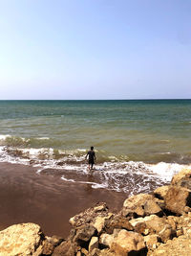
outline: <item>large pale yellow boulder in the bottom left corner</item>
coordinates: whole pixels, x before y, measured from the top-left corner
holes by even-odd
[[[40,226],[34,223],[14,224],[0,232],[1,256],[33,255],[42,244]],[[39,251],[36,256],[40,255]]]

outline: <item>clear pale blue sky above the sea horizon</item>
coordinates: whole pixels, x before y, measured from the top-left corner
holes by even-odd
[[[0,99],[191,98],[190,0],[0,0]]]

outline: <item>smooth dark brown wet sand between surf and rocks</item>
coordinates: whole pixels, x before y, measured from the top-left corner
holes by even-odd
[[[90,184],[76,184],[60,179],[53,172],[36,174],[35,168],[0,163],[0,229],[11,224],[34,222],[46,235],[66,238],[69,219],[98,201],[105,201],[117,211],[127,194],[93,189]],[[90,176],[94,181],[93,176]]]

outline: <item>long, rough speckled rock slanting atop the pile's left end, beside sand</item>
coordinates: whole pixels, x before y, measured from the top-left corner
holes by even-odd
[[[96,204],[95,207],[90,207],[82,213],[79,213],[72,217],[69,222],[74,227],[91,223],[96,219],[97,216],[106,217],[108,215],[108,207],[105,202]]]

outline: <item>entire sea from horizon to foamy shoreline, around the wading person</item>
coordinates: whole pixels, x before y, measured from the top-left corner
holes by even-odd
[[[191,100],[0,101],[0,162],[94,190],[148,193],[191,169]]]

